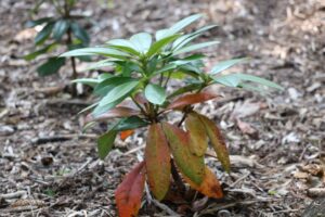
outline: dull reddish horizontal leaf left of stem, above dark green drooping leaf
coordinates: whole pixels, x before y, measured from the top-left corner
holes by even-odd
[[[131,107],[118,106],[118,107],[108,110],[106,113],[104,113],[98,117],[93,117],[92,114],[89,114],[86,117],[86,123],[105,120],[105,119],[110,119],[110,118],[116,118],[116,117],[130,117],[130,116],[139,115],[139,114],[140,114],[140,111],[138,111],[138,110],[133,110]]]

